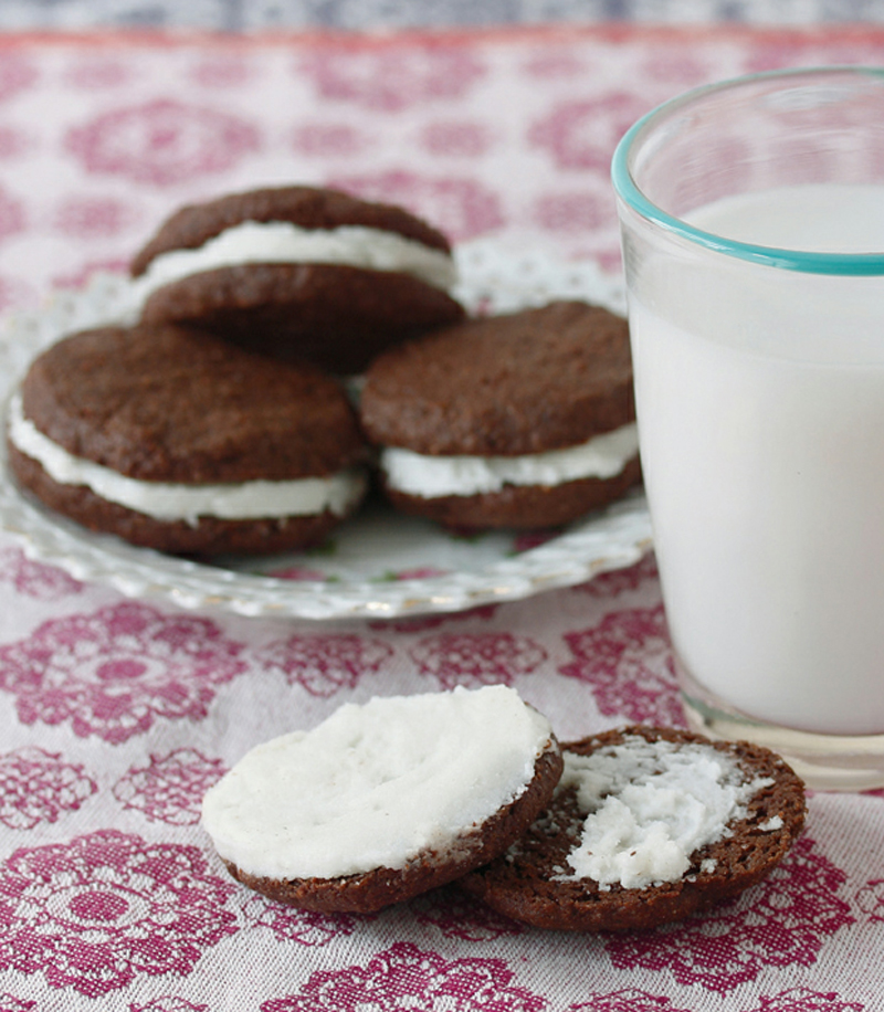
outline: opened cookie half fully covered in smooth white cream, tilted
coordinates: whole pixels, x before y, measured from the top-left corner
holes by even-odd
[[[250,888],[368,913],[503,853],[560,772],[549,723],[506,686],[375,698],[253,749],[202,823]]]

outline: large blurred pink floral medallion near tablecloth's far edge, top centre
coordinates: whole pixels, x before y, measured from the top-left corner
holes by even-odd
[[[317,48],[299,68],[324,97],[385,113],[460,98],[484,74],[473,53],[440,45],[343,52]]]

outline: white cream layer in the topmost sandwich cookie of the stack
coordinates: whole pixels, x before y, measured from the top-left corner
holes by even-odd
[[[362,225],[302,229],[286,221],[244,221],[212,236],[194,250],[170,250],[135,280],[138,295],[191,274],[238,264],[344,264],[372,271],[399,271],[448,291],[456,281],[454,260],[394,232]]]

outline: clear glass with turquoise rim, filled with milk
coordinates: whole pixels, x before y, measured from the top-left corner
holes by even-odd
[[[884,70],[675,98],[613,159],[692,726],[884,784]]]

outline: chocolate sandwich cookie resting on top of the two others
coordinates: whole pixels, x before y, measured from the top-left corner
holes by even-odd
[[[461,319],[451,247],[408,211],[284,187],[185,207],[136,255],[141,319],[338,375]]]

